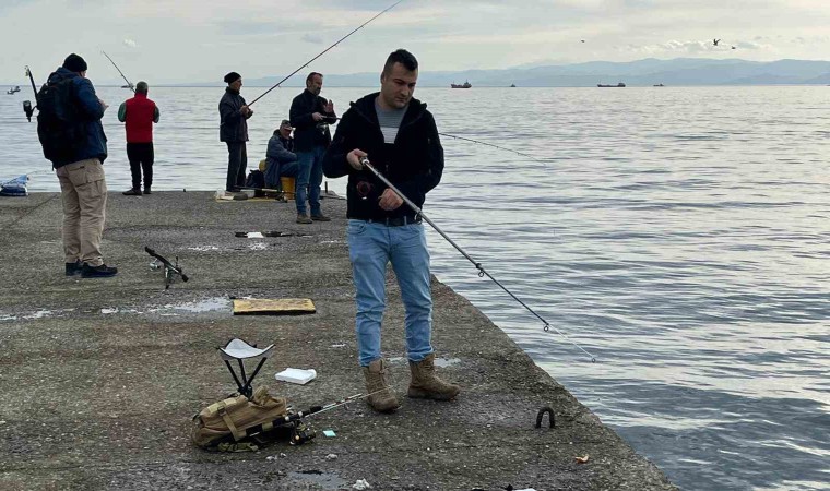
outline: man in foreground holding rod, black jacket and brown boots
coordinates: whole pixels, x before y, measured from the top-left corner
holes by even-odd
[[[323,160],[325,176],[348,175],[348,250],[357,303],[357,345],[369,405],[386,412],[400,407],[389,385],[389,364],[380,352],[386,308],[386,270],[392,263],[406,310],[406,350],[412,379],[410,397],[449,400],[461,388],[435,375],[431,346],[432,298],[429,251],[420,217],[392,189],[364,168],[367,157],[418,207],[438,185],[443,148],[426,104],[413,99],[418,62],[412,53],[392,52],[380,75],[380,93],[353,103],[337,125]]]

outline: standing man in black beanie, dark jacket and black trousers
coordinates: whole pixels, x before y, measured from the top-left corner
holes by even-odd
[[[220,141],[227,143],[227,179],[225,191],[235,191],[245,185],[245,168],[248,167],[248,119],[253,111],[239,95],[242,76],[236,72],[225,75],[225,95],[220,100]]]

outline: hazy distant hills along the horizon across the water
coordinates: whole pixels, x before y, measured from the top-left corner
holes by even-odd
[[[284,75],[283,75],[284,76]],[[281,75],[246,79],[247,86],[271,86]],[[327,74],[329,87],[377,87],[379,73]],[[665,85],[779,85],[828,84],[830,61],[779,60],[770,62],[739,59],[714,60],[709,58],[649,58],[630,62],[591,61],[574,64],[555,64],[505,70],[465,70],[458,72],[420,73],[419,86],[449,87],[451,83],[470,81],[473,87],[582,87],[597,83],[628,86]],[[216,83],[177,84],[216,86]],[[284,86],[301,87],[304,77],[295,75]]]

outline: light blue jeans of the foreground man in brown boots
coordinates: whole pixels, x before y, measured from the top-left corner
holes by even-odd
[[[405,310],[406,352],[420,361],[432,352],[432,296],[429,290],[429,251],[422,224],[387,227],[348,220],[348,258],[355,279],[357,347],[360,366],[380,359],[380,323],[386,302],[387,264],[401,287]]]

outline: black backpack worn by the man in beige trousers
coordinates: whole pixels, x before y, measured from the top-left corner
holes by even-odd
[[[71,163],[86,142],[86,124],[71,77],[49,76],[37,93],[37,137],[54,165]]]

